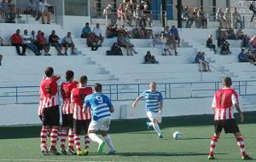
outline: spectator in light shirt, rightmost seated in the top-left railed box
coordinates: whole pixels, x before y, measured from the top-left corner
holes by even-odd
[[[40,0],[40,2],[38,3],[38,9],[40,11],[40,15],[42,16],[43,24],[50,23],[50,13],[48,11],[49,6],[51,5],[47,3],[47,0]]]

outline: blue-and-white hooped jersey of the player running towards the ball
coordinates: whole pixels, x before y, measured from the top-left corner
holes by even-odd
[[[146,100],[146,110],[148,112],[157,113],[159,111],[159,102],[163,100],[163,95],[159,91],[145,90],[140,97]]]

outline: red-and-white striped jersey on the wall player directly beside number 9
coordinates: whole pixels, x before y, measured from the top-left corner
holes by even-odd
[[[71,91],[71,101],[73,102],[73,119],[91,119],[90,109],[83,113],[83,103],[86,95],[92,94],[91,87],[79,87]]]

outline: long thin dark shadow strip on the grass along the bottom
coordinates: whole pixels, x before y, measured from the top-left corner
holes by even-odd
[[[218,153],[227,154],[227,153]],[[207,156],[208,153],[118,153],[119,156]]]

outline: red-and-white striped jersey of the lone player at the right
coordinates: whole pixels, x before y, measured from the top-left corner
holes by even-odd
[[[215,108],[214,120],[234,119],[234,105],[238,103],[238,95],[234,89],[218,90],[212,101]]]

